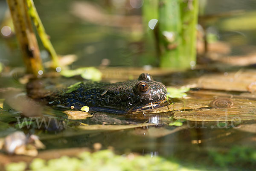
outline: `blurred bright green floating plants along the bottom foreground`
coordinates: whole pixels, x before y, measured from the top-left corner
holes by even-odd
[[[6,171],[26,170],[26,163],[10,163]],[[95,153],[83,152],[78,157],[63,156],[58,159],[34,159],[29,165],[29,171],[196,171],[186,168],[177,162],[163,157],[150,155],[137,156],[134,154],[116,155],[110,150]],[[17,170],[15,170],[17,171]]]

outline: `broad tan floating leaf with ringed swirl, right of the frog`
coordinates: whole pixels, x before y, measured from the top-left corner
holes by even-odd
[[[222,97],[219,95],[222,95]],[[232,97],[232,95],[225,95],[224,93],[221,94],[218,92],[207,94],[198,91],[192,92],[190,96],[192,96],[192,100],[195,100],[195,98],[201,98],[201,102],[197,102],[202,104],[211,104],[217,99],[224,99],[224,101],[221,102],[224,102],[224,105],[218,105],[218,108],[200,108],[191,111],[175,111],[175,119],[187,119],[191,121],[239,121],[256,119],[256,100],[244,99],[244,97],[243,99],[238,98],[239,96],[237,95],[233,96],[236,98],[227,98],[227,96]],[[215,105],[212,107],[215,107]]]

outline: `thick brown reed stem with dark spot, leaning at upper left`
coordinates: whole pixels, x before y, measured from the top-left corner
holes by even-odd
[[[38,42],[28,14],[26,0],[7,0],[7,3],[11,12],[17,41],[23,54],[26,70],[29,73],[38,75],[40,70],[43,71],[43,65]]]

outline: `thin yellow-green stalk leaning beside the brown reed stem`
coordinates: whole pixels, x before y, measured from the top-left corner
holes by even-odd
[[[36,11],[33,0],[26,0],[26,2],[28,5],[28,8],[29,8],[29,15],[31,16],[31,18],[35,24],[38,35],[39,35],[45,49],[47,49],[47,51],[49,52],[49,54],[52,57],[52,61],[53,61],[53,65],[54,65],[53,67],[55,67],[55,68],[59,67],[60,64],[58,61],[58,55],[56,54],[55,49],[53,48],[52,43],[49,40],[49,37],[45,32],[44,26],[41,22],[39,15],[38,15],[38,12]]]

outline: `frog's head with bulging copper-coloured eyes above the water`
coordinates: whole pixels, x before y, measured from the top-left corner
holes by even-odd
[[[136,95],[134,109],[145,109],[146,107],[157,107],[166,99],[167,88],[161,82],[154,81],[148,73],[140,74],[138,81],[133,87]]]

